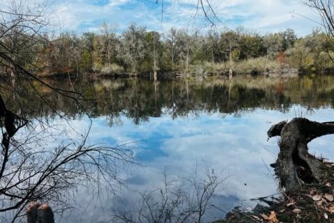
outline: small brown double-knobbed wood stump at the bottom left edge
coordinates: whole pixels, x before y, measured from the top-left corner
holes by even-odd
[[[54,223],[54,213],[47,203],[40,204],[37,201],[32,201],[26,208],[26,222]]]

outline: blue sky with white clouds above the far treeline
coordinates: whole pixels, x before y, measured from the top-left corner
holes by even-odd
[[[38,1],[38,0],[31,0]],[[166,32],[171,27],[180,29],[208,29],[202,10],[196,15],[197,0],[49,0],[55,21],[61,29],[81,33],[100,31],[102,22],[116,24],[119,32],[131,23],[148,30]],[[317,14],[299,0],[210,0],[220,19],[217,29],[244,26],[250,31],[268,33],[294,29],[298,36],[311,33],[319,26]],[[161,15],[164,19],[161,21]],[[302,16],[301,16],[302,15]]]

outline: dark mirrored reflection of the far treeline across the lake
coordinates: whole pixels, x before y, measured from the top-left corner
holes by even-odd
[[[206,79],[196,81],[193,78],[160,80],[152,82],[145,79],[97,79],[81,80],[74,84],[74,90],[84,92],[85,106],[91,116],[107,116],[110,125],[121,125],[121,116],[126,116],[139,124],[150,117],[198,116],[207,114],[234,114],[240,116],[255,108],[278,109],[287,112],[293,104],[305,107],[328,105],[334,98],[333,77],[301,77],[294,79],[246,78],[225,81],[223,79]],[[49,81],[52,84],[72,85],[67,81]],[[43,86],[38,86],[43,91]],[[29,113],[31,117],[53,116],[57,111],[63,116],[80,118],[75,102],[61,98],[55,93],[46,93],[44,102],[29,88],[17,92],[10,109]],[[47,89],[45,89],[47,91]],[[19,95],[24,94],[22,99]],[[27,96],[29,98],[27,99]],[[6,100],[13,100],[13,94],[5,93]]]

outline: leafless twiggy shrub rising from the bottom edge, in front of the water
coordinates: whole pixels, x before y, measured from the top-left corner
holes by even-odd
[[[198,165],[186,178],[170,180],[164,172],[163,185],[154,190],[138,192],[138,209],[117,211],[113,222],[202,222],[212,198],[216,196],[226,178],[221,178]]]

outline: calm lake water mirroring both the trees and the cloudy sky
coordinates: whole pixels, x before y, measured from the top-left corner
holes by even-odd
[[[203,222],[224,217],[234,206],[252,208],[256,202],[250,199],[278,193],[269,167],[278,154],[278,138],[268,141],[267,130],[294,117],[333,121],[333,83],[333,77],[320,76],[98,79],[74,85],[98,98],[85,105],[93,121],[89,144],[129,149],[140,164],[120,169],[123,184],[116,185],[117,196],[79,189],[74,209],[58,220],[111,222],[120,210],[136,215],[143,203],[140,194],[152,192],[159,201],[165,176],[177,185],[195,175],[202,180],[212,171],[224,180]],[[73,103],[60,104],[71,128],[85,132],[90,119],[77,114]],[[311,153],[333,159],[331,141],[331,135],[315,139]]]

